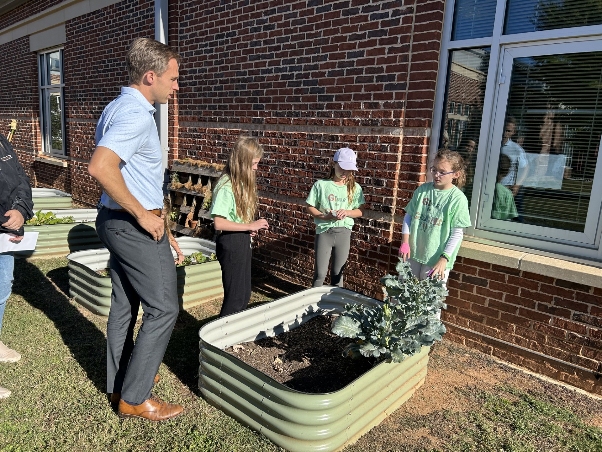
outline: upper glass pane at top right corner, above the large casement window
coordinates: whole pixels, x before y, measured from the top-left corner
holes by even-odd
[[[598,24],[600,0],[508,0],[504,34]]]

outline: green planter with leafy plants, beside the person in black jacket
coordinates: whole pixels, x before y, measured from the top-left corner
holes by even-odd
[[[48,209],[57,218],[73,216],[75,223],[25,226],[25,232],[39,232],[34,251],[15,251],[14,256],[48,259],[67,256],[73,251],[90,250],[102,246],[96,234],[96,209]]]

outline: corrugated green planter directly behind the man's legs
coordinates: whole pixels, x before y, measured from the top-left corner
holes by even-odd
[[[209,257],[216,251],[216,243],[211,240],[194,237],[177,237],[176,240],[185,255],[200,251]],[[176,257],[173,248],[172,254]],[[96,273],[108,267],[108,250],[77,251],[69,254],[67,259],[69,295],[93,314],[108,316],[111,309],[111,278]],[[176,273],[180,309],[188,309],[223,295],[222,269],[217,260],[178,267]],[[142,309],[138,315],[142,315]]]

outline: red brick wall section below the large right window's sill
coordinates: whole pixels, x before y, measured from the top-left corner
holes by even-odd
[[[452,326],[448,339],[602,394],[602,289],[467,258],[448,288],[441,318],[486,336]]]

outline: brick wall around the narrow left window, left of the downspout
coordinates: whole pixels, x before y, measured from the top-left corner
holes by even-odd
[[[0,17],[0,24],[38,13],[57,1],[28,2]],[[87,163],[95,146],[96,121],[102,109],[129,83],[125,53],[141,36],[154,37],[155,2],[125,0],[102,10],[67,20],[64,45],[65,133],[69,166],[34,162],[40,152],[38,63],[23,37],[1,46],[11,64],[0,71],[0,133],[8,133],[11,118],[19,121],[13,146],[34,186],[54,187],[78,201],[96,204],[98,184]],[[5,25],[4,25],[5,26]]]

